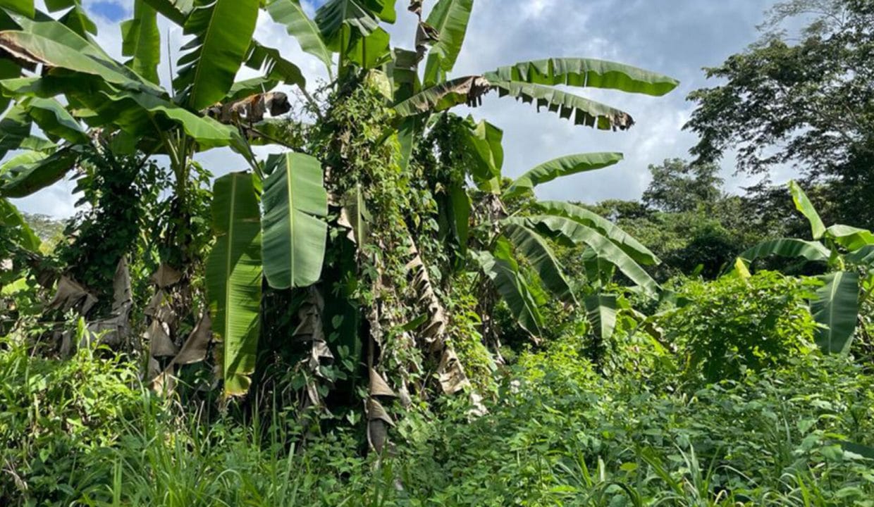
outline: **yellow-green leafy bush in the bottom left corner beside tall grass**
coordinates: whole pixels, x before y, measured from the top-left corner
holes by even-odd
[[[111,477],[105,450],[118,442],[122,421],[150,401],[135,365],[97,352],[52,360],[24,340],[0,341],[0,504],[68,504],[77,484]]]

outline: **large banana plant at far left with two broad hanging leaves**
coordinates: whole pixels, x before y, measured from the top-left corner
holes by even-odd
[[[290,176],[288,165],[278,160],[263,165],[248,143],[252,135],[248,127],[260,121],[266,110],[274,114],[288,111],[284,95],[264,92],[279,83],[304,86],[300,69],[281,58],[278,51],[253,40],[259,0],[136,0],[133,19],[121,24],[122,54],[128,58],[123,62],[110,58],[94,42],[93,24],[78,1],[59,0],[48,5],[52,11],[64,10],[61,17],[55,19],[34,10],[32,1],[0,3],[4,58],[0,87],[3,95],[14,101],[0,120],[6,133],[0,139],[0,150],[3,154],[24,150],[4,164],[0,195],[22,197],[36,192],[75,168],[84,150],[108,147],[121,153],[167,155],[176,176],[173,199],[184,213],[186,196],[191,186],[198,184],[191,180],[194,154],[213,147],[232,147],[242,155],[241,161],[250,166],[256,181],[244,185],[240,182],[246,178],[234,175],[216,182],[213,226],[217,237],[207,259],[206,286],[215,335],[223,344],[225,394],[245,393],[258,340],[258,332],[253,330],[257,322],[252,320],[258,312],[257,308],[252,312],[253,302],[248,297],[260,293],[261,279],[254,272],[256,267],[262,269],[262,256],[250,251],[252,244],[239,242],[255,241],[247,231],[260,231],[262,186],[267,186],[269,198],[263,235],[272,261],[263,267],[268,280],[281,287],[309,284],[321,271],[324,228],[314,226],[312,221],[318,219],[308,214],[323,216],[327,209],[319,211],[318,200],[314,204],[309,196],[299,199],[301,190],[295,185],[303,183],[292,181],[295,178]],[[160,85],[157,72],[161,61],[159,14],[180,24],[192,37],[182,48],[177,73],[166,89]],[[242,65],[261,70],[263,76],[236,82]],[[43,69],[38,75],[24,72],[38,66]],[[307,168],[309,171],[302,174],[315,178],[321,188],[321,168],[317,163],[315,170],[311,163]],[[264,179],[266,173],[271,177]],[[285,175],[289,176],[283,179]],[[305,194],[307,190],[304,185]],[[225,209],[228,203],[233,206]],[[253,213],[253,206],[257,213]],[[309,227],[302,217],[311,218]],[[184,251],[184,234],[177,238],[183,263],[199,255]],[[259,241],[260,237],[259,233]],[[309,247],[320,243],[322,252],[316,248],[315,258],[308,256]],[[294,252],[284,268],[293,271],[291,275],[275,267],[281,262],[275,252],[283,245]],[[219,269],[221,266],[224,269]],[[167,272],[173,271],[161,271]],[[170,300],[165,289],[179,284],[179,277],[161,273],[155,279],[170,282],[167,286],[158,283],[156,299],[147,308],[156,324],[149,326],[154,331],[149,332],[154,352],[150,377],[160,373],[156,357],[177,352],[173,342],[178,343],[176,337],[162,332],[172,329],[172,323],[157,320],[172,318],[172,312],[161,309]],[[244,300],[246,304],[240,303]],[[254,304],[257,307],[257,299]],[[158,343],[163,346],[155,346]],[[170,367],[174,362],[170,360]]]

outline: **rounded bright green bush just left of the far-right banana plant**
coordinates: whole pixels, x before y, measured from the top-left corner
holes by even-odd
[[[676,290],[678,307],[658,324],[688,380],[737,379],[746,369],[776,367],[810,351],[817,326],[807,301],[817,286],[770,271],[689,281]]]

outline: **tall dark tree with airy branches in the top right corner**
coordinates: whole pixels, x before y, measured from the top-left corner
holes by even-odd
[[[792,164],[829,183],[836,220],[871,227],[863,204],[874,191],[874,6],[793,0],[770,14],[759,42],[707,69],[725,84],[690,94],[697,109],[686,128],[701,136],[692,153],[717,161],[737,148],[750,175]],[[798,38],[777,30],[802,15],[813,20]]]

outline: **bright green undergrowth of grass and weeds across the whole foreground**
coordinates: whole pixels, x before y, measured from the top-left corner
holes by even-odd
[[[0,353],[3,505],[871,505],[874,379],[816,353],[690,391],[605,377],[578,341],[523,353],[489,414],[399,421],[392,456],[142,390],[134,363]],[[645,352],[644,352],[645,353]],[[847,444],[845,442],[851,442]]]

